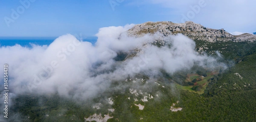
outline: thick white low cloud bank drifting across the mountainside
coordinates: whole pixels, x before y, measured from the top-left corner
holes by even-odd
[[[199,55],[195,42],[182,34],[129,37],[126,31],[132,26],[100,28],[95,46],[67,34],[49,46],[1,47],[0,64],[9,64],[10,91],[87,99],[104,92],[112,81],[124,81],[137,73],[154,76],[160,69],[173,74],[195,64],[208,68],[221,65],[213,57]],[[165,46],[152,45],[157,38],[162,38]],[[118,53],[129,54],[134,50],[136,56],[114,60]]]

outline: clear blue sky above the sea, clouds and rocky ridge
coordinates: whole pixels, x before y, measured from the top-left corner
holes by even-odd
[[[91,37],[102,27],[183,20],[253,33],[255,5],[255,0],[0,0],[0,37]]]

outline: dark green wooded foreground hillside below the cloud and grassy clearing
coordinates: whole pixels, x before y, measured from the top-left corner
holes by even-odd
[[[113,105],[108,99],[100,100],[107,96],[93,99],[95,104],[90,101],[76,104],[58,95],[24,95],[15,99],[17,102],[12,109],[22,113],[26,122],[84,122],[90,117],[95,117],[96,122],[107,122],[103,115],[111,116],[108,122],[253,122],[256,117],[255,57],[255,53],[244,57],[230,71],[212,78],[202,95],[158,82],[160,85],[155,83],[148,89],[131,86],[109,93]],[[239,79],[235,73],[244,79]],[[125,84],[133,82],[119,82],[119,85]],[[101,103],[98,104],[99,109],[93,107],[96,103]]]

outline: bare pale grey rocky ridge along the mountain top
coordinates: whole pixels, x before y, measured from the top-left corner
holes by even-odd
[[[232,35],[222,29],[206,28],[192,21],[185,23],[172,23],[170,21],[163,22],[146,22],[137,24],[127,31],[129,36],[141,37],[145,34],[154,34],[159,32],[163,36],[176,35],[181,33],[188,36],[192,40],[203,40],[207,42],[216,41],[256,41],[256,35],[241,34]]]

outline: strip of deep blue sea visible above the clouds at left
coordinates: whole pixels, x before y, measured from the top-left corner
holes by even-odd
[[[57,37],[0,37],[0,47],[14,46],[19,44],[23,47],[32,47],[35,45],[50,45]],[[83,41],[92,43],[93,45],[97,41],[97,37],[87,37]]]

